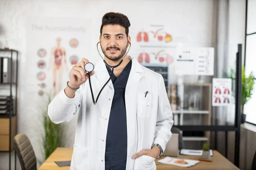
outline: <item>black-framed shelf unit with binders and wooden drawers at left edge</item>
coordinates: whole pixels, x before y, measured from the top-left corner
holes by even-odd
[[[17,134],[18,51],[0,49],[0,59],[0,105],[3,108],[7,104],[8,108],[6,113],[0,113],[0,152],[9,152],[9,170],[11,170],[11,153],[14,150],[13,139]],[[16,170],[16,152],[14,157]]]

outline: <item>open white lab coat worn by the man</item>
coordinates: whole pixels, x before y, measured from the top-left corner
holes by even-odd
[[[94,71],[91,85],[96,99],[100,89],[109,79],[109,74],[102,60],[95,64]],[[146,91],[148,94],[145,97]],[[109,81],[97,104],[93,105],[87,81],[76,91],[73,99],[68,98],[62,90],[49,104],[49,118],[56,124],[69,122],[79,110],[70,170],[105,170],[105,141],[113,95],[113,84]],[[125,106],[126,170],[156,170],[153,157],[131,157],[140,150],[151,149],[153,143],[160,144],[165,150],[172,135],[172,110],[163,77],[140,65],[135,58],[132,58],[125,89]]]

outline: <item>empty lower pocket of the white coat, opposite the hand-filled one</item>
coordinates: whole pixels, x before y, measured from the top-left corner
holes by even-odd
[[[74,145],[72,159],[74,170],[90,170],[90,148]]]

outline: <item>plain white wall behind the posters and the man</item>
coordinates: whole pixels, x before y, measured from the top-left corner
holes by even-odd
[[[215,47],[216,45],[216,0],[1,0],[0,2],[0,48],[3,48],[4,38],[8,37],[9,47],[20,52],[19,85],[18,85],[18,133],[26,133],[32,142],[35,154],[41,159],[40,132],[41,121],[38,115],[27,112],[29,101],[24,101],[26,95],[26,18],[27,17],[89,17],[92,19],[92,56],[84,57],[94,62],[99,60],[96,43],[99,40],[99,28],[102,16],[109,11],[121,12],[128,16],[131,22],[130,34],[135,40],[137,26],[147,24],[144,18],[150,18],[152,23],[168,23],[174,42],[183,42],[193,46]],[[236,0],[235,3],[239,3]],[[240,4],[241,5],[241,4]],[[239,8],[237,6],[236,8]],[[234,13],[240,16],[239,13]],[[239,34],[236,32],[236,34]],[[243,34],[243,33],[241,33]],[[240,35],[240,34],[239,34]],[[239,36],[236,35],[236,36]],[[239,40],[240,41],[240,40]],[[235,43],[235,42],[234,42]],[[235,49],[236,50],[236,49]],[[131,48],[132,52],[132,48]],[[233,57],[233,56],[232,56]],[[171,81],[175,82],[174,69]],[[194,81],[196,77],[188,77]],[[64,86],[64,85],[63,85]],[[36,96],[35,96],[36,97]],[[68,147],[72,147],[76,120],[68,123]],[[38,142],[39,141],[39,142]],[[8,154],[0,153],[0,169],[8,168]]]

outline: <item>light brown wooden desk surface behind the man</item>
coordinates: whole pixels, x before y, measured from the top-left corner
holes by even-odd
[[[58,147],[50,156],[49,158],[41,165],[41,167],[38,170],[70,170],[70,167],[58,167],[57,164],[55,164],[54,161],[69,161],[72,158],[73,148],[63,148]],[[163,159],[164,156],[162,156],[159,159]],[[200,156],[185,156],[180,155],[178,158],[181,159],[194,159],[198,160],[201,157]],[[200,161],[195,166],[184,168],[184,167],[178,167],[174,165],[168,165],[168,164],[162,164],[157,162],[156,159],[156,165],[157,170],[180,170],[180,169],[188,169],[188,170],[239,170],[234,164],[232,164],[228,159],[226,159],[224,156],[222,156],[218,151],[213,150],[213,156],[211,157],[212,162],[205,162]]]

